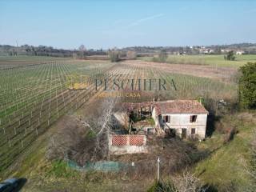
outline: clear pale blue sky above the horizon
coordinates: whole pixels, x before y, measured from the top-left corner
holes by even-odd
[[[256,42],[256,1],[0,1],[0,44],[74,49]]]

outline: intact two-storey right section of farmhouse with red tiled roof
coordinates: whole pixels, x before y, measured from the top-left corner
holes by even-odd
[[[152,110],[158,129],[181,138],[205,138],[208,114],[204,106],[195,100],[156,102]]]

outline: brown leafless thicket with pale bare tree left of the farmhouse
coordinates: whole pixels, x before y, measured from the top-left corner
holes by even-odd
[[[114,104],[113,98],[107,98],[102,102],[98,115],[86,119],[66,117],[58,125],[57,133],[50,138],[46,157],[68,158],[81,165],[86,161],[106,158]]]

